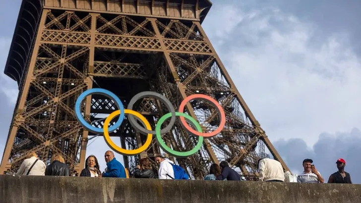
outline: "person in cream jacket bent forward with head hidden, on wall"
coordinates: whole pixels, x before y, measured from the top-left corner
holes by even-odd
[[[282,164],[271,158],[258,160],[259,181],[285,182],[285,173]]]

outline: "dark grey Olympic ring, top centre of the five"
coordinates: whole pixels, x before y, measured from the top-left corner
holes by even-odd
[[[160,131],[160,134],[166,134],[168,133],[174,123],[176,122],[176,110],[174,109],[173,107],[173,104],[171,103],[171,101],[169,101],[166,97],[164,97],[163,95],[159,94],[159,93],[155,93],[155,92],[150,92],[150,91],[147,91],[147,92],[141,92],[141,93],[138,93],[136,94],[130,101],[129,101],[129,104],[128,104],[128,109],[133,109],[133,105],[134,103],[139,100],[139,99],[142,99],[142,98],[145,98],[145,97],[149,97],[149,96],[152,96],[160,101],[162,101],[168,108],[169,112],[172,113],[172,118],[171,118],[171,122],[167,125],[167,127],[163,128],[161,131]],[[130,124],[133,126],[133,128],[135,128],[138,132],[141,132],[142,134],[153,134],[155,135],[156,132],[155,131],[149,131],[149,130],[146,130],[144,129],[143,127],[141,127],[134,119],[133,116],[129,116],[128,115],[128,120],[130,122]]]

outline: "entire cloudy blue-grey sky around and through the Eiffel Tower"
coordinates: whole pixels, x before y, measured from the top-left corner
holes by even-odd
[[[20,6],[12,2],[0,8],[1,156],[17,99],[16,82],[3,74]],[[353,182],[361,183],[361,2],[212,2],[203,28],[291,171],[300,174],[302,160],[311,158],[327,181],[344,158]],[[105,150],[94,147],[107,145],[97,138],[87,151],[103,170]]]

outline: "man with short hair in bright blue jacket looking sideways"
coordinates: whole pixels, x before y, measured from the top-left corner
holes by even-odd
[[[103,177],[126,178],[124,166],[116,159],[112,151],[105,152],[104,157],[107,168],[102,174]]]

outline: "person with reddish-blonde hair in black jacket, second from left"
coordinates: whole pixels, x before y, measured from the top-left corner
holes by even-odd
[[[69,166],[65,164],[64,158],[59,153],[53,154],[50,162],[51,164],[45,170],[45,175],[70,176]]]

